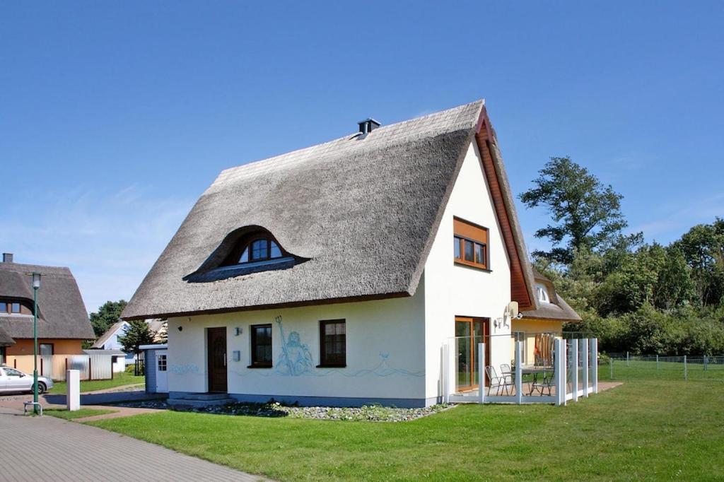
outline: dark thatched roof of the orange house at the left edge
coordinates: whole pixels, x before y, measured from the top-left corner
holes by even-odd
[[[83,298],[70,269],[20,263],[0,263],[0,297],[33,303],[33,288],[26,273],[43,275],[38,290],[38,337],[91,339]],[[0,327],[14,339],[33,337],[33,317],[0,316]]]

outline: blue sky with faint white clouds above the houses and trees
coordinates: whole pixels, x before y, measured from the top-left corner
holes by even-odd
[[[568,155],[670,242],[724,216],[724,3],[632,3],[3,2],[0,250],[95,310],[222,169],[477,98],[516,194]]]

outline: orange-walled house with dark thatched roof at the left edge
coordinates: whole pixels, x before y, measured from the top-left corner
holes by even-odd
[[[38,289],[38,371],[64,376],[65,360],[83,355],[93,339],[83,298],[70,269],[15,263],[4,253],[0,263],[0,361],[33,372],[33,287],[28,273],[41,273]]]

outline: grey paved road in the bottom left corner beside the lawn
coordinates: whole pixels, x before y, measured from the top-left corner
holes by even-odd
[[[258,481],[256,475],[54,417],[0,407],[0,482]]]

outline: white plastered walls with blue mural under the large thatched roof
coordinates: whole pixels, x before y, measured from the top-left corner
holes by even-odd
[[[453,216],[489,229],[489,270],[453,263]],[[172,397],[207,392],[206,329],[225,327],[227,391],[237,399],[300,404],[432,405],[442,399],[441,347],[455,337],[455,316],[489,318],[492,365],[510,362],[510,321],[494,328],[510,302],[510,263],[476,144],[468,149],[413,297],[169,318]],[[282,324],[274,319],[282,317]],[[319,321],[345,319],[345,368],[290,374],[284,339],[295,331],[312,367],[319,364]],[[250,326],[272,324],[272,368],[251,364]],[[486,340],[487,341],[487,340]],[[239,358],[237,361],[235,358]]]

